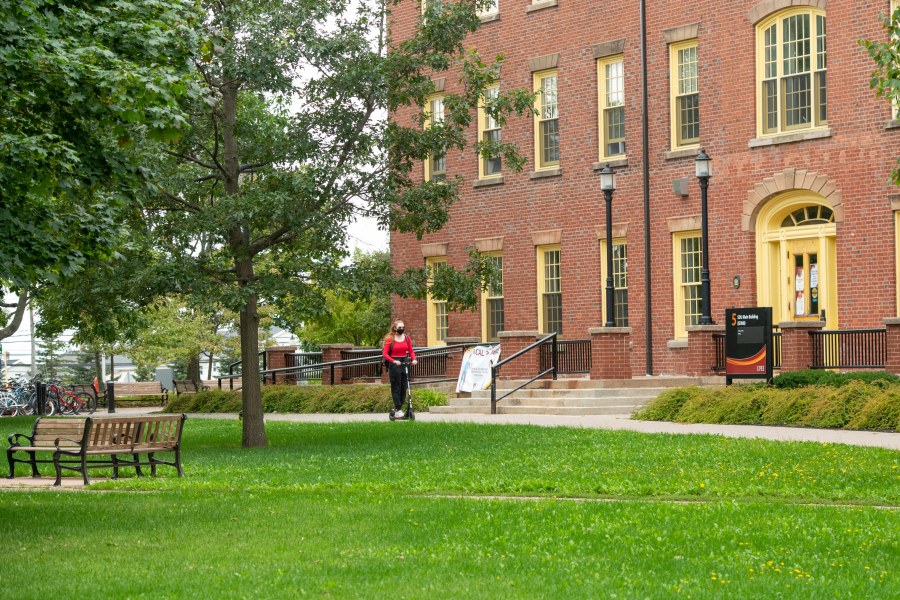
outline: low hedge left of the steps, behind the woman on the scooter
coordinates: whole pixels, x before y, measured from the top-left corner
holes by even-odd
[[[386,385],[270,385],[263,387],[263,412],[275,413],[377,413],[393,408],[391,388]],[[447,404],[441,392],[413,391],[413,407]],[[208,390],[197,394],[181,394],[169,402],[169,412],[238,412],[241,392]]]

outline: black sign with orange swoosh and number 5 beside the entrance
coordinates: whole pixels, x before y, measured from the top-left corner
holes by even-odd
[[[772,379],[772,308],[725,311],[725,381]]]

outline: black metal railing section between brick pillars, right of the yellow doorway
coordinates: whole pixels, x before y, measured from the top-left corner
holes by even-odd
[[[883,369],[887,330],[810,331],[811,369]]]

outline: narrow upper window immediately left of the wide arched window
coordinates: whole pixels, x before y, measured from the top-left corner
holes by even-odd
[[[669,46],[672,72],[672,150],[700,144],[700,88],[697,75],[697,40]]]

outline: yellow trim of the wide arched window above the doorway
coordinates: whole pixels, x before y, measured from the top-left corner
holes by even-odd
[[[795,125],[793,127],[786,127],[784,124],[784,106],[783,106],[783,97],[781,94],[781,82],[784,79],[784,75],[782,73],[783,70],[783,60],[784,57],[782,55],[783,48],[781,45],[782,35],[783,35],[783,26],[782,19],[787,17],[791,17],[794,15],[801,14],[809,14],[810,15],[810,95],[811,95],[811,106],[810,106],[810,114],[812,116],[812,121],[809,125]],[[815,81],[815,72],[816,72],[816,34],[818,32],[818,24],[816,23],[816,17],[822,16],[826,17],[826,12],[824,10],[812,7],[812,6],[797,6],[791,8],[785,8],[778,12],[772,13],[756,25],[756,83],[754,86],[754,94],[756,95],[756,136],[757,138],[777,138],[785,135],[791,135],[797,133],[798,131],[812,131],[812,130],[822,130],[828,128],[828,120],[819,122],[817,117],[818,112],[818,93],[815,90],[816,81]],[[827,18],[827,17],[826,17]],[[771,27],[773,24],[778,25],[777,28],[777,41],[775,47],[778,50],[778,58],[775,61],[777,65],[778,75],[776,76],[776,95],[778,98],[778,127],[777,131],[766,132],[765,126],[765,106],[763,105],[762,98],[762,82],[766,79],[765,77],[765,32]],[[827,22],[826,22],[826,48],[827,48]],[[828,68],[827,68],[827,49],[826,49],[826,68],[825,73],[827,77]],[[826,93],[827,93],[827,83],[826,83]],[[827,106],[827,105],[826,105]]]

